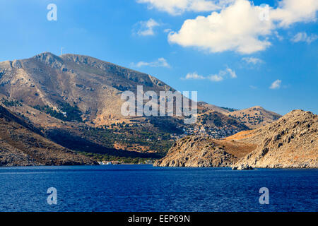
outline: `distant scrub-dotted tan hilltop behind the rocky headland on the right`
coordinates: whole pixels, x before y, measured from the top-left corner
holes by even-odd
[[[265,126],[281,117],[280,114],[270,112],[263,107],[255,106],[247,109],[237,110],[225,113],[228,117],[240,121],[250,129],[256,129]]]

